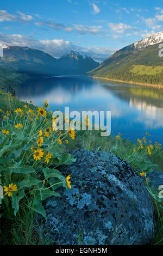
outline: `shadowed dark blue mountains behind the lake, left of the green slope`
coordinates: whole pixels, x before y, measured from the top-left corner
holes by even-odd
[[[78,52],[68,52],[57,59],[40,50],[20,46],[3,46],[0,64],[29,76],[83,75],[99,63]]]

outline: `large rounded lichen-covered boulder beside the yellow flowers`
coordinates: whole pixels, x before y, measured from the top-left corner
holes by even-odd
[[[74,150],[71,190],[46,200],[47,234],[58,245],[145,245],[154,236],[153,205],[131,166],[113,154]]]

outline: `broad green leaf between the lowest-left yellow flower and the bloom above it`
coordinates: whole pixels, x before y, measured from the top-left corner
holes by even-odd
[[[22,164],[22,160],[18,163],[15,163],[12,167],[9,167],[10,174],[11,173],[34,173],[35,169],[32,166],[24,166]]]

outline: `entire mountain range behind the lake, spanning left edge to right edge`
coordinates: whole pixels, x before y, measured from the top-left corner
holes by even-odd
[[[12,77],[14,82],[19,82],[27,77],[57,75],[90,75],[163,85],[163,57],[159,56],[161,42],[163,32],[155,33],[116,51],[101,65],[73,50],[57,59],[29,47],[4,45],[0,58],[0,86],[12,82]]]

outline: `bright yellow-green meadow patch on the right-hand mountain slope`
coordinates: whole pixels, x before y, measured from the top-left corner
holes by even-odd
[[[145,66],[145,65],[134,65],[130,72],[139,75],[156,75],[161,74],[163,66]]]

